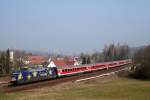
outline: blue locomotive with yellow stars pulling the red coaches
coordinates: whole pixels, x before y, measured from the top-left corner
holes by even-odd
[[[53,78],[57,78],[55,67],[22,67],[20,70],[12,72],[11,83],[16,85]]]

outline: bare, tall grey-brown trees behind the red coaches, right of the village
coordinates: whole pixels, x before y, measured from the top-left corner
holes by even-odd
[[[99,63],[104,61],[115,61],[129,58],[130,48],[127,44],[105,45],[102,52],[95,51],[92,54],[80,54],[82,64]]]

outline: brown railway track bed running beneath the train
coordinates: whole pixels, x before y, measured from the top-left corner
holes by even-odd
[[[40,81],[40,82],[36,82],[36,83],[23,84],[23,85],[19,85],[19,86],[10,86],[8,84],[7,86],[2,87],[0,89],[0,92],[10,93],[10,92],[25,91],[25,90],[30,90],[30,89],[37,89],[37,88],[46,87],[46,86],[53,86],[53,85],[56,85],[56,84],[67,82],[67,81],[75,81],[75,80],[78,80],[78,79],[93,77],[93,76],[96,76],[96,75],[101,75],[101,74],[121,70],[125,67],[129,67],[129,65],[123,65],[123,66],[119,66],[119,67],[116,67],[116,68],[111,68],[111,69],[108,69],[108,70],[103,69],[103,70],[99,70],[99,71],[95,71],[95,72],[84,73],[84,74],[79,74],[79,75],[70,76],[70,77],[63,77],[63,78],[58,78],[58,79],[54,79],[54,80],[45,80],[45,81]]]

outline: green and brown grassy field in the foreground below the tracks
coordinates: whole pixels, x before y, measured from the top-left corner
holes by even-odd
[[[150,81],[107,76],[0,94],[0,100],[150,100]]]

